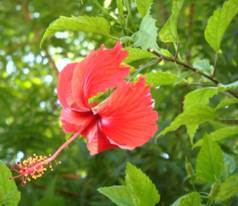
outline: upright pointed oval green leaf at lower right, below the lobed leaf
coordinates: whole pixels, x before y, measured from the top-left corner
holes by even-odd
[[[220,178],[223,167],[224,156],[220,146],[205,136],[197,157],[197,180],[201,183],[212,183]]]

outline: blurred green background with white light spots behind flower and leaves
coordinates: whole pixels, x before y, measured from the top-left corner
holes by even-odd
[[[138,30],[141,17],[133,0],[125,0],[125,3],[130,8],[128,24],[131,31],[126,34],[130,36]],[[185,1],[179,20],[179,35],[180,51],[186,62],[191,64],[193,59],[204,57],[214,61],[203,31],[208,17],[222,3],[222,0]],[[170,10],[170,0],[154,1],[152,16],[157,20],[158,28],[166,21]],[[128,15],[127,9],[124,12]],[[69,62],[82,59],[102,43],[107,47],[115,43],[113,39],[95,34],[57,32],[46,47],[40,48],[47,26],[61,15],[104,16],[111,21],[112,34],[121,37],[125,34],[114,21],[117,14],[116,1],[110,0],[0,0],[1,160],[14,164],[34,153],[49,154],[65,140],[59,123],[61,108],[56,97],[57,71]],[[238,18],[224,37],[224,55],[217,62],[217,78],[224,83],[238,78],[237,25]],[[133,66],[137,68],[141,63],[134,62]],[[178,72],[170,63],[154,67]],[[181,112],[184,95],[195,86],[152,88],[160,129]],[[181,128],[166,137],[154,138],[134,151],[112,150],[94,157],[89,155],[85,143],[79,139],[61,154],[62,164],[55,166],[53,172],[25,187],[19,185],[20,205],[113,205],[97,188],[122,183],[127,161],[150,176],[160,191],[160,205],[169,205],[192,188],[186,179],[184,164],[185,160],[194,163],[196,151],[191,150],[184,131]]]

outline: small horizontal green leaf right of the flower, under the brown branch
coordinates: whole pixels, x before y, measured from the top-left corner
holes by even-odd
[[[178,77],[170,72],[150,72],[146,74],[146,82],[151,86],[171,85],[178,81]]]

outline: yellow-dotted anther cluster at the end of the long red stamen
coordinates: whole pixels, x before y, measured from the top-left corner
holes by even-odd
[[[25,185],[27,182],[30,182],[32,179],[37,179],[42,177],[48,168],[53,170],[52,164],[50,163],[50,157],[48,156],[37,156],[34,154],[32,157],[18,162],[13,170],[18,173],[17,176],[13,177],[14,179],[20,179],[22,184]]]

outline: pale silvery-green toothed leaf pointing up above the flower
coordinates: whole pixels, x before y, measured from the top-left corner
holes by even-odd
[[[139,31],[132,36],[135,47],[141,47],[145,50],[158,50],[157,27],[155,22],[155,19],[148,12],[141,21]]]

